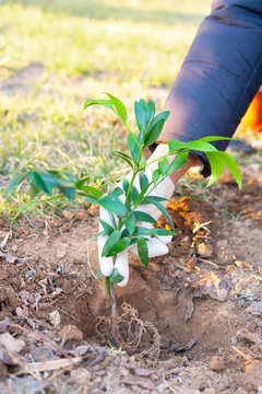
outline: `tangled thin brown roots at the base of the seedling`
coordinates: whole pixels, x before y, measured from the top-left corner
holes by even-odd
[[[138,311],[127,302],[122,303],[121,309],[122,314],[117,318],[119,345],[121,344],[122,349],[135,352],[138,358],[146,356],[156,360],[160,354],[160,336],[156,327],[153,323],[139,318]],[[112,322],[109,317],[98,317],[96,332],[105,341],[111,328]]]

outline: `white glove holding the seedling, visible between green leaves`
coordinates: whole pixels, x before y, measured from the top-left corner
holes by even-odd
[[[146,167],[145,175],[147,176],[150,182],[152,179],[153,171],[156,170],[157,167],[158,167],[157,163],[153,163]],[[127,176],[127,178],[130,181],[131,176],[132,176],[132,173],[129,174]],[[120,187],[122,186],[121,183],[122,182],[120,182],[120,184],[119,184]],[[140,193],[141,188],[140,188],[140,183],[139,183],[139,177],[136,177],[134,179],[134,186],[136,187],[136,189]],[[166,207],[168,204],[168,200],[171,198],[171,196],[174,194],[174,190],[175,190],[175,185],[168,176],[156,188],[154,188],[154,190],[152,192],[152,195],[166,198],[167,199],[166,201],[160,202],[164,207]],[[119,198],[122,200],[124,199],[123,196],[120,196]],[[153,204],[141,205],[138,207],[138,210],[151,215],[155,220],[157,220],[162,215],[159,209],[157,209]],[[111,225],[111,219],[109,217],[109,213],[103,207],[100,207],[100,219]],[[116,222],[118,223],[118,219],[116,216],[115,216],[115,219],[116,219]],[[148,229],[153,228],[153,225],[151,223],[136,222],[136,224],[148,228]],[[103,229],[102,224],[99,224],[99,231],[103,231],[103,230],[104,229]],[[147,242],[148,257],[163,256],[163,255],[167,254],[168,247],[166,244],[171,241],[171,237],[172,237],[171,235],[151,237],[150,241]],[[108,235],[102,235],[98,237],[98,256],[99,256],[99,264],[100,264],[102,273],[105,276],[110,276],[112,269],[117,268],[119,274],[121,274],[124,277],[124,279],[118,283],[118,286],[120,286],[120,287],[126,286],[129,280],[128,252],[138,256],[139,255],[138,245],[136,244],[130,245],[127,250],[124,250],[123,252],[120,252],[116,256],[116,260],[115,260],[115,265],[114,265],[112,257],[102,257],[102,251],[103,251],[103,247],[104,247],[107,239],[108,239]]]

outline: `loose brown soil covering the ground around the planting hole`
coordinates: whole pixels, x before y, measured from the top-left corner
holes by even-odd
[[[177,235],[169,254],[151,259],[148,269],[130,256],[130,281],[115,289],[118,344],[106,318],[109,297],[94,278],[96,242],[86,246],[98,209],[23,218],[10,237],[2,221],[0,321],[8,317],[5,331],[25,347],[15,354],[20,363],[0,357],[0,392],[19,393],[22,383],[26,393],[262,392],[262,174],[253,175],[246,170],[241,192],[225,174],[204,199],[187,189],[170,200]],[[80,367],[60,368],[60,378],[26,373],[25,363],[64,352],[81,356]]]

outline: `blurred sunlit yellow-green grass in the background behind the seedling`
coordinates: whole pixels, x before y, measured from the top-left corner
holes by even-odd
[[[0,0],[1,187],[34,167],[87,175],[104,190],[121,177],[126,167],[111,154],[126,146],[121,126],[102,107],[83,113],[84,101],[110,91],[129,113],[140,97],[159,109],[210,7],[206,0],[164,7],[156,0]],[[45,66],[44,74],[11,80],[20,93],[7,96],[4,80],[33,61]],[[12,217],[23,207],[37,212],[24,194],[2,198],[0,212]]]

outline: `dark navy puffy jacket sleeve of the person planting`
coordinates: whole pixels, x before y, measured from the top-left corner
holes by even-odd
[[[231,137],[261,84],[262,0],[214,1],[166,101],[170,116],[158,142]],[[206,157],[196,154],[210,175]]]

